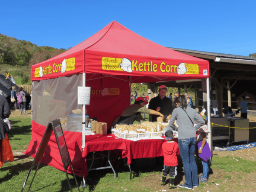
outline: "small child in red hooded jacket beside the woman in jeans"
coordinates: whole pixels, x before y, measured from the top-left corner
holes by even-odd
[[[162,185],[166,184],[166,177],[169,173],[169,189],[174,189],[176,186],[173,184],[175,176],[177,175],[177,168],[178,165],[177,161],[177,154],[179,153],[178,144],[173,141],[173,132],[172,128],[170,128],[168,131],[164,134],[165,139],[167,142],[163,143],[162,149],[163,149],[163,177],[162,177]]]

